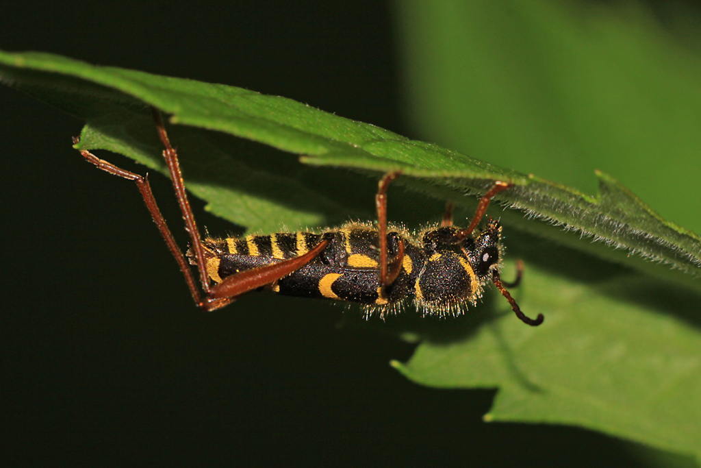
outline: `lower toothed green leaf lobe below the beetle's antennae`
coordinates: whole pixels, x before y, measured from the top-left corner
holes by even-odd
[[[411,361],[394,366],[430,387],[499,387],[485,420],[572,424],[698,455],[698,295],[574,252],[566,261],[575,277],[528,262],[516,298],[545,314],[540,328],[508,317],[477,330],[465,320],[456,337],[418,331]]]

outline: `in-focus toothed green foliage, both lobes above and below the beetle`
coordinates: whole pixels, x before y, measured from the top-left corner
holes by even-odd
[[[76,147],[109,149],[163,172],[147,105],[161,109],[170,116],[187,187],[213,213],[250,229],[334,225],[348,215],[372,219],[374,183],[311,166],[375,175],[402,169],[398,185],[438,200],[393,191],[390,215],[402,214],[409,225],[440,218],[446,200],[468,216],[475,197],[465,193],[503,180],[515,187],[501,201],[671,265],[674,270],[592,246],[506,210],[501,218],[511,258],[529,265],[515,297],[526,314],[545,314],[543,326],[524,326],[500,298],[454,321],[412,322],[405,314],[386,328],[423,339],[409,365],[397,364],[414,380],[502,387],[494,419],[579,424],[685,453],[701,446],[694,430],[701,394],[701,238],[660,218],[607,175],[598,174],[600,196],[589,196],[289,99],[55,55],[0,53],[0,79],[86,119]],[[308,166],[278,150],[303,155]],[[476,320],[488,311],[489,326],[478,328]]]

